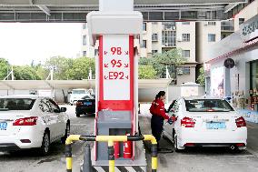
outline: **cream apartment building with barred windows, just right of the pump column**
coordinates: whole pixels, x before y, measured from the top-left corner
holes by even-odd
[[[173,48],[181,48],[187,63],[178,67],[177,84],[195,82],[195,23],[148,22],[144,23],[143,44],[140,56],[150,57]]]

